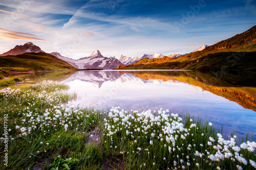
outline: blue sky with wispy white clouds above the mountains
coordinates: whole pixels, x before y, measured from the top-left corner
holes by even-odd
[[[0,54],[30,41],[78,59],[185,54],[256,25],[256,0],[0,0]]]

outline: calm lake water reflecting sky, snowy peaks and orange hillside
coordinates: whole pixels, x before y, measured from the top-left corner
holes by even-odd
[[[256,74],[184,70],[90,70],[25,75],[27,81],[57,80],[70,86],[75,102],[106,109],[168,109],[210,119],[224,134],[256,139]]]

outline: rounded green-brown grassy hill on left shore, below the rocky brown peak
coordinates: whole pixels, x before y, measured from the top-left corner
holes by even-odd
[[[76,69],[66,61],[47,53],[25,53],[0,57],[0,74],[11,71],[53,71]]]

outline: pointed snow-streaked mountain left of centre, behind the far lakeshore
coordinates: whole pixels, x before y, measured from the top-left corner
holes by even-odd
[[[61,60],[68,62],[78,69],[93,69],[93,68],[102,68],[102,69],[113,69],[119,65],[122,65],[115,57],[103,57],[101,53],[96,50],[88,57],[83,57],[78,60],[74,60],[68,57],[63,57],[59,53],[51,53],[52,55],[58,57]]]

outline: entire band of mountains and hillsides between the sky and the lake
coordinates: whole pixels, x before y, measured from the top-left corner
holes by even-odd
[[[242,53],[241,53],[242,52]],[[21,55],[21,56],[20,56]],[[223,70],[245,69],[256,70],[256,26],[242,34],[220,41],[214,45],[202,45],[189,54],[143,54],[142,56],[127,57],[121,55],[119,60],[115,57],[104,57],[96,50],[88,57],[72,59],[64,57],[58,52],[45,53],[32,42],[16,45],[8,52],[0,55],[0,73],[4,70],[56,70],[56,69],[206,69]],[[47,56],[47,58],[45,58]],[[40,58],[37,66],[31,61]],[[46,66],[58,62],[58,66]],[[5,60],[4,60],[5,59]],[[49,62],[52,59],[54,62]],[[57,61],[56,61],[57,59]],[[25,61],[26,60],[26,61]],[[249,61],[249,62],[248,62]],[[16,65],[13,63],[17,63]],[[24,63],[22,66],[18,63]],[[26,65],[25,63],[28,63]],[[65,63],[65,64],[64,64]],[[62,67],[62,65],[65,65]],[[46,67],[44,67],[46,66]]]

